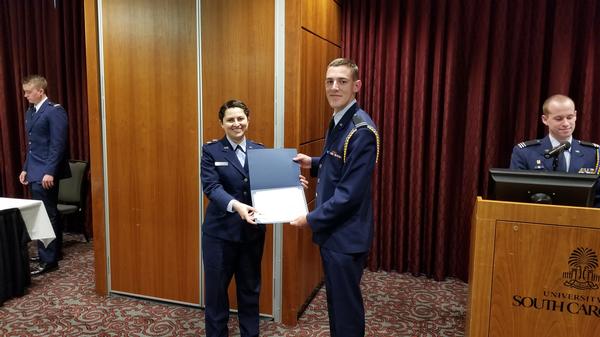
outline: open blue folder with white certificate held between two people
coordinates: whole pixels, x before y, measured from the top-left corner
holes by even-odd
[[[296,149],[248,151],[250,190],[257,223],[290,222],[308,213],[299,179],[300,167],[292,161]]]

